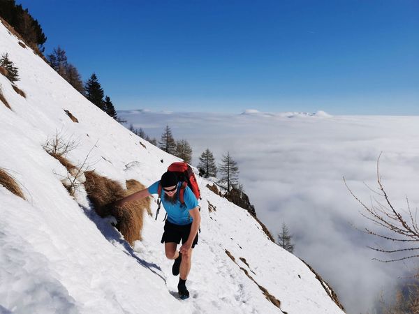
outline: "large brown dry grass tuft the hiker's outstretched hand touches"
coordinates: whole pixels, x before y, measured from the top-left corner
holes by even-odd
[[[112,203],[131,194],[114,180],[102,177],[93,171],[84,172],[89,200],[99,216],[112,215],[117,219],[117,229],[124,235],[126,241],[133,246],[135,240],[141,240],[142,217],[144,207],[139,207],[140,202],[130,202],[123,207],[112,206]]]

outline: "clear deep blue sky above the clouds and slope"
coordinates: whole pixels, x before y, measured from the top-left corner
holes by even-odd
[[[419,114],[419,1],[17,0],[117,110]]]

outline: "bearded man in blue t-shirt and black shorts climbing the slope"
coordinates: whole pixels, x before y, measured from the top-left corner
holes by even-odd
[[[192,249],[198,243],[198,229],[200,225],[200,212],[198,200],[192,190],[186,186],[184,190],[184,204],[179,200],[179,192],[182,182],[177,181],[173,172],[165,172],[160,181],[156,181],[152,186],[144,190],[133,193],[116,205],[122,206],[126,202],[140,200],[152,194],[157,194],[161,184],[162,193],[161,204],[168,213],[168,218],[164,225],[161,243],[164,243],[166,257],[175,260],[172,266],[172,274],[179,276],[177,290],[180,299],[189,298],[189,291],[186,289],[186,278],[191,270]],[[182,246],[177,251],[177,244],[182,239]]]

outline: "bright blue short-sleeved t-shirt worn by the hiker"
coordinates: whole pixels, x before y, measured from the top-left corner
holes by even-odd
[[[154,184],[147,188],[150,194],[158,193],[159,183],[160,181],[154,182]],[[171,202],[165,200],[165,192],[163,188],[161,188],[161,204],[163,204],[166,213],[168,213],[169,223],[174,223],[175,225],[189,225],[189,223],[192,223],[193,221],[192,216],[189,215],[189,211],[198,206],[198,200],[196,200],[196,196],[195,194],[193,194],[191,188],[189,188],[189,186],[186,186],[184,191],[185,204],[182,206],[182,204],[179,201],[179,190],[181,185],[182,182],[179,182],[179,184],[177,184],[177,201],[175,202],[175,204],[172,204]]]

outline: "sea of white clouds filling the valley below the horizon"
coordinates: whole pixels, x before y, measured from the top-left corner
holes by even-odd
[[[258,218],[277,234],[283,222],[295,255],[328,281],[348,313],[366,313],[381,292],[415,271],[412,262],[386,259],[367,246],[391,248],[356,228],[370,226],[342,177],[367,204],[376,195],[377,158],[385,188],[397,209],[419,204],[419,117],[339,116],[286,112],[242,114],[118,112],[158,140],[166,125],[193,148],[193,165],[209,148],[218,162],[230,155]],[[400,247],[400,246],[399,246]]]

